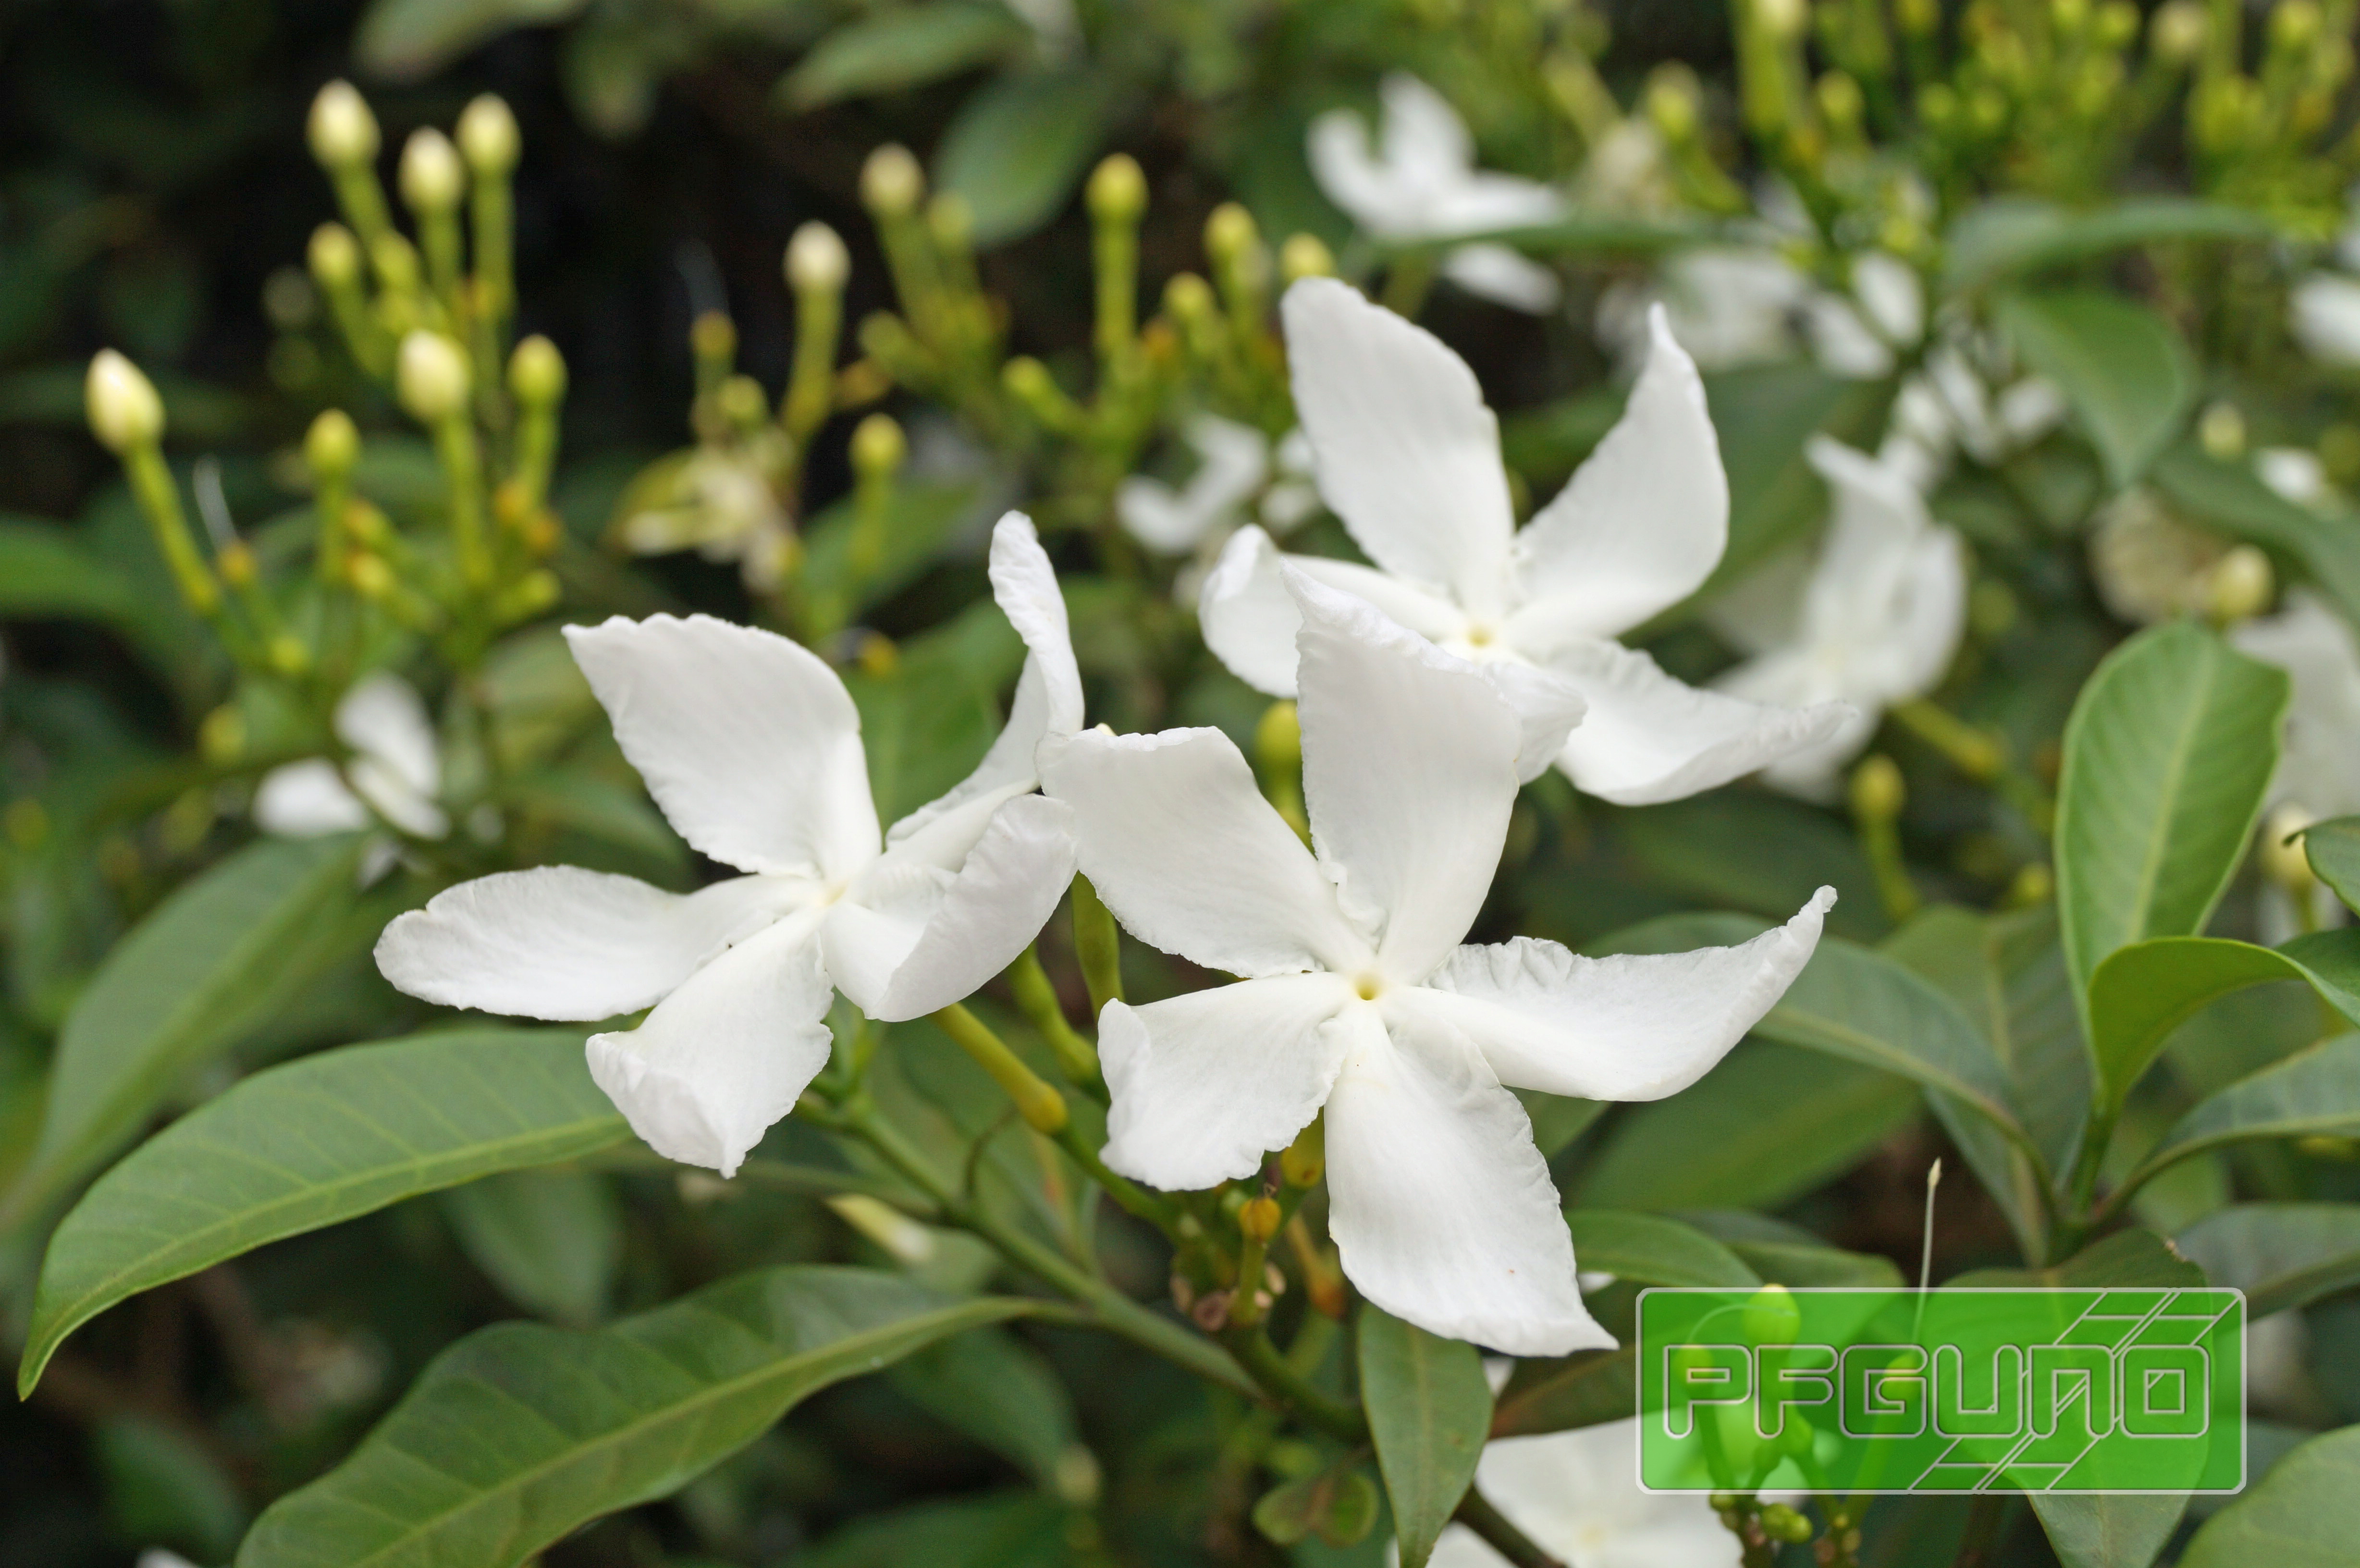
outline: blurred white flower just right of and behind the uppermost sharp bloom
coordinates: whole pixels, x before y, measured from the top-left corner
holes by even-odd
[[[1923,697],[1949,668],[1966,626],[1966,550],[1893,463],[1827,437],[1812,437],[1808,453],[1834,491],[1820,555],[1798,593],[1756,583],[1756,593],[1716,607],[1713,628],[1753,659],[1713,685],[1751,701],[1850,704],[1850,718],[1822,744],[1763,772],[1779,789],[1824,801],[1879,716]]]

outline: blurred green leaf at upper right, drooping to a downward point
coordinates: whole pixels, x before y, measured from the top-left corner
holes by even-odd
[[[2148,472],[2195,404],[2188,345],[2136,300],[2084,288],[2013,293],[1999,302],[1999,324],[2072,404],[2115,489]]]

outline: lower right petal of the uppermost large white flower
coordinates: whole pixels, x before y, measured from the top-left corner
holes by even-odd
[[[1548,671],[1588,701],[1558,767],[1584,793],[1617,805],[1685,801],[1820,746],[1850,718],[1834,701],[1784,708],[1706,692],[1617,642],[1569,645]]]

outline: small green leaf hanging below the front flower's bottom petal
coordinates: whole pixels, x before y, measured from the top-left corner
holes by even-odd
[[[1492,1431],[1492,1384],[1475,1346],[1428,1334],[1374,1304],[1362,1304],[1357,1337],[1359,1398],[1392,1497],[1402,1568],[1425,1568],[1475,1481]]]

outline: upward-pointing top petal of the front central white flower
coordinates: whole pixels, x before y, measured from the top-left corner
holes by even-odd
[[[1522,725],[1482,673],[1366,600],[1289,576],[1303,609],[1303,801],[1345,916],[1423,980],[1492,890]]]

